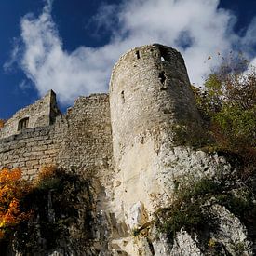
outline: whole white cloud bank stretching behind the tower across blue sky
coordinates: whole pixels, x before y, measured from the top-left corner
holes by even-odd
[[[209,55],[225,55],[235,45],[250,59],[254,54],[256,20],[243,37],[235,34],[236,17],[219,9],[218,0],[130,0],[101,6],[93,22],[111,34],[110,41],[71,53],[63,49],[51,4],[48,0],[39,17],[22,18],[20,66],[40,95],[52,88],[63,104],[72,103],[78,95],[107,91],[115,61],[131,47],[160,43],[177,48],[195,84],[202,83],[209,65],[218,63],[217,59],[206,62]]]

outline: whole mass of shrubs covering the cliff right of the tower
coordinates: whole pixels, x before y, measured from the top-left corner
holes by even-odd
[[[189,184],[182,177],[169,207],[155,212],[158,230],[171,240],[182,229],[197,235],[207,234],[206,229],[214,232],[218,220],[209,213],[213,205],[228,209],[246,225],[252,239],[256,236],[256,69],[245,73],[246,64],[223,64],[209,74],[203,88],[193,87],[205,128],[195,130],[193,124],[174,128],[180,144],[217,151],[235,172],[229,179],[191,178]],[[209,237],[209,249],[217,249],[217,243]],[[235,250],[241,255],[243,249],[239,244]]]

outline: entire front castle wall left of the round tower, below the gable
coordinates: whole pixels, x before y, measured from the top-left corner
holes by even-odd
[[[0,169],[21,168],[31,180],[49,166],[81,172],[107,168],[112,159],[108,99],[107,94],[80,97],[54,124],[0,139]]]

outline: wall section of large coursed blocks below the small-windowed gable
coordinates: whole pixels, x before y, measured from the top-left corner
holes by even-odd
[[[33,179],[41,168],[56,165],[65,130],[60,116],[54,125],[26,128],[0,140],[0,169],[20,168],[25,179]]]

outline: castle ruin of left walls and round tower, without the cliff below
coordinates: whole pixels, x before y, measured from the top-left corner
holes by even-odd
[[[7,120],[0,130],[0,168],[19,167],[28,179],[53,165],[81,172],[129,168],[137,162],[131,158],[159,151],[173,123],[199,119],[181,54],[156,44],[137,47],[115,64],[109,94],[79,97],[61,115],[50,90]]]

